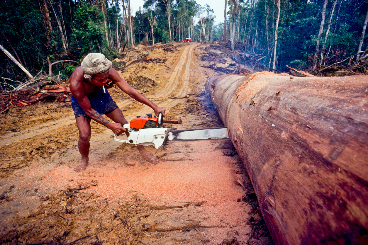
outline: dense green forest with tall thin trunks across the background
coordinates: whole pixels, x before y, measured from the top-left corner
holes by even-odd
[[[217,25],[210,1],[146,0],[135,14],[130,1],[1,1],[1,89],[19,89],[42,74],[66,79],[90,52],[113,60],[137,45],[188,37],[260,54],[275,72],[367,57],[366,0],[225,0]]]

